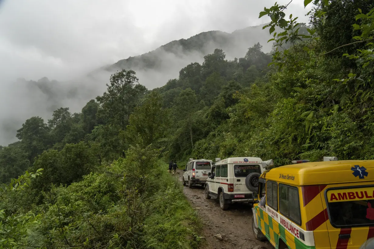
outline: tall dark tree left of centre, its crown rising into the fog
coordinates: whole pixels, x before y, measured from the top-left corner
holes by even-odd
[[[138,81],[132,70],[123,69],[112,74],[110,85],[107,84],[107,91],[102,96],[96,97],[101,106],[98,117],[105,120],[106,124],[119,125],[122,130],[125,130],[138,98],[147,90]]]

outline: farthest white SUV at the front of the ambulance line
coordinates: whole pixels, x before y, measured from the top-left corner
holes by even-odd
[[[183,186],[186,186],[186,183],[188,183],[188,187],[192,187],[193,184],[204,186],[208,174],[211,172],[212,163],[212,160],[194,160],[190,158],[190,161],[186,164],[186,168],[183,169]]]

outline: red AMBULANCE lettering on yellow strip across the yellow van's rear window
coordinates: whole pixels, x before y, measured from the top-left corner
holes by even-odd
[[[374,187],[355,189],[334,189],[327,192],[328,202],[374,199]]]

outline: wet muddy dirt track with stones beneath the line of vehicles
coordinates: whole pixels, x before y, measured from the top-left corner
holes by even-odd
[[[183,171],[179,170],[177,177],[182,181]],[[196,209],[203,223],[202,236],[206,243],[200,248],[204,249],[252,249],[261,245],[267,249],[274,249],[269,242],[260,242],[252,235],[252,206],[246,203],[234,203],[226,211],[220,208],[215,199],[207,200],[204,189],[199,185],[193,185],[190,189],[187,185],[183,193]],[[221,234],[223,240],[214,237]]]

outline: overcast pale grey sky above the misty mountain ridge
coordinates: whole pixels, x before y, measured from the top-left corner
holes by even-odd
[[[286,4],[287,1],[278,1]],[[275,0],[0,0],[0,80],[68,80],[199,32],[260,25]],[[301,21],[309,9],[294,0]],[[1,84],[0,81],[0,84]]]

